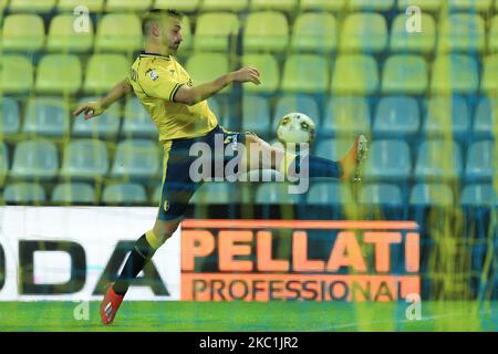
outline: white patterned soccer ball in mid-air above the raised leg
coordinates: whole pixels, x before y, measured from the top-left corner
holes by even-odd
[[[277,137],[282,144],[311,144],[314,135],[314,122],[303,113],[286,114],[277,127]]]

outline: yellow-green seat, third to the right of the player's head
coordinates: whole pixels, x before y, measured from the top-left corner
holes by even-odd
[[[293,52],[330,53],[336,50],[335,18],[331,13],[308,12],[295,19],[291,50]]]

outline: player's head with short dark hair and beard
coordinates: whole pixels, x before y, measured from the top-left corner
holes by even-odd
[[[146,42],[167,48],[169,54],[176,54],[181,38],[181,20],[184,15],[174,10],[151,10],[143,19]]]

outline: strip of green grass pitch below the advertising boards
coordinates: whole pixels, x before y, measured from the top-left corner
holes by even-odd
[[[74,302],[0,302],[0,331],[498,331],[498,302],[422,302],[418,321],[406,317],[408,305],[129,301],[123,303],[115,324],[104,327],[97,302],[81,312],[80,321],[74,317]]]

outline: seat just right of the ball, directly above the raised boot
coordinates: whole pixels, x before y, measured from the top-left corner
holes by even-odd
[[[369,103],[359,96],[333,96],[328,104],[322,129],[333,135],[364,134],[371,129]]]

